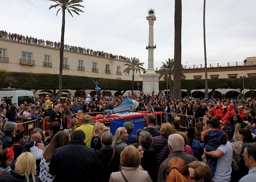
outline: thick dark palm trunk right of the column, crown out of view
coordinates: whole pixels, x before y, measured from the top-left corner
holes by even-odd
[[[174,13],[174,98],[181,98],[181,0],[175,0]]]

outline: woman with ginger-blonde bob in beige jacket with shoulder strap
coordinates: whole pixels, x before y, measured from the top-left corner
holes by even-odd
[[[126,146],[120,156],[122,171],[113,172],[110,175],[110,182],[113,181],[133,181],[148,182],[150,177],[147,171],[138,169],[140,165],[141,154],[133,145]]]

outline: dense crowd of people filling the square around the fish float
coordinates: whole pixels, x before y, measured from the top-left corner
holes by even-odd
[[[125,122],[112,134],[103,123],[90,124],[91,117],[118,107],[123,96],[89,94],[67,97],[65,103],[38,98],[19,107],[2,101],[0,181],[254,180],[255,100],[179,100],[161,93],[131,98],[139,101],[135,111],[162,111],[162,116],[148,115],[146,127],[137,131],[133,123]],[[169,113],[191,117],[192,124],[190,119],[178,124],[166,119]],[[45,117],[50,123],[47,138],[39,124],[29,136],[24,135],[25,127],[17,129],[16,123],[39,123]],[[160,125],[157,117],[164,123]],[[182,122],[187,127],[181,128]]]

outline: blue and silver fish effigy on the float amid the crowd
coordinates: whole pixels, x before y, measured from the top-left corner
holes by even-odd
[[[112,109],[112,110],[104,110],[106,112],[106,116],[104,118],[107,118],[109,115],[114,114],[114,113],[126,113],[128,111],[133,111],[136,108],[138,108],[139,102],[136,100],[132,100],[126,96],[124,101],[121,103],[120,106]]]

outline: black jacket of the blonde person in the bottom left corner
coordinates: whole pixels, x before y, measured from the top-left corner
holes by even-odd
[[[0,175],[1,182],[24,182],[27,181],[25,176],[19,175],[14,170],[11,170],[11,173],[4,173]],[[39,177],[35,177],[35,181],[39,182],[41,179]],[[29,176],[29,182],[33,182],[32,176]]]

